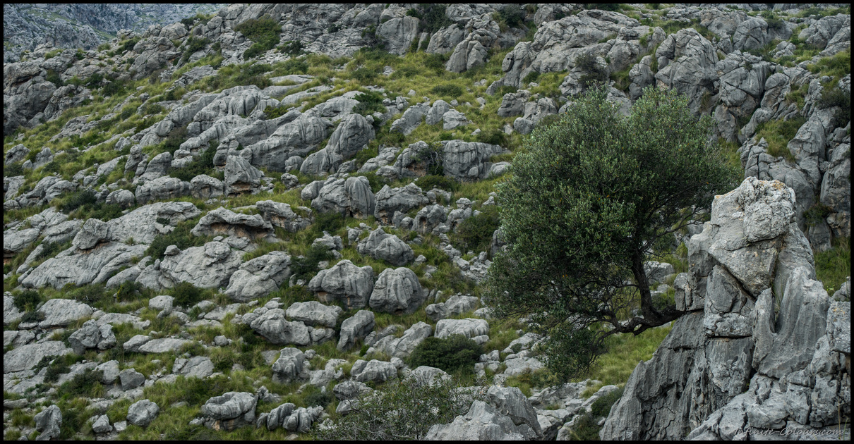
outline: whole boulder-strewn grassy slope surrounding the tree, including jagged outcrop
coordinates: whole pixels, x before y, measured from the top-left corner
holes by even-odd
[[[38,8],[80,27],[3,64],[4,439],[364,437],[436,378],[411,437],[850,424],[850,7],[665,6]],[[714,113],[746,180],[650,258],[689,313],[558,384],[481,298],[494,186],[602,81]]]

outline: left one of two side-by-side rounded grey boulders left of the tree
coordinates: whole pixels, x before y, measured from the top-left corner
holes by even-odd
[[[308,282],[308,290],[318,293],[322,302],[341,301],[348,309],[364,308],[373,291],[373,268],[356,267],[343,260],[332,268],[320,270]]]

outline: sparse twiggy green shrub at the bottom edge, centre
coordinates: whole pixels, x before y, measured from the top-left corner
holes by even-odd
[[[313,438],[419,440],[430,426],[450,423],[457,415],[465,414],[472,401],[484,398],[477,388],[466,388],[453,378],[435,381],[430,384],[406,378],[400,383],[385,383],[373,395],[360,395],[353,411],[338,419],[332,428],[313,429]]]

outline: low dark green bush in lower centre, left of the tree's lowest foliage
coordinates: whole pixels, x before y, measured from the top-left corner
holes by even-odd
[[[445,372],[471,372],[480,355],[483,355],[483,346],[468,337],[451,335],[443,339],[434,336],[419,343],[409,360],[412,368],[431,366]]]

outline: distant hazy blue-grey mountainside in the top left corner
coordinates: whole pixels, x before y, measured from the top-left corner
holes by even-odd
[[[211,14],[214,3],[3,3],[3,62],[22,51],[45,48],[95,49],[122,29],[145,31],[196,14]]]

